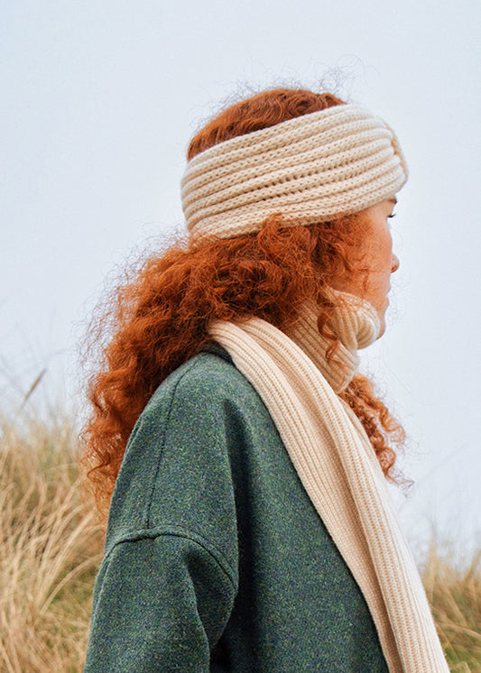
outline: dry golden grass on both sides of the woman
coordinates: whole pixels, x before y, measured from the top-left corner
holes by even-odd
[[[0,422],[0,671],[78,673],[102,535],[81,501],[69,419]],[[480,554],[433,543],[424,583],[452,671],[481,673]]]

